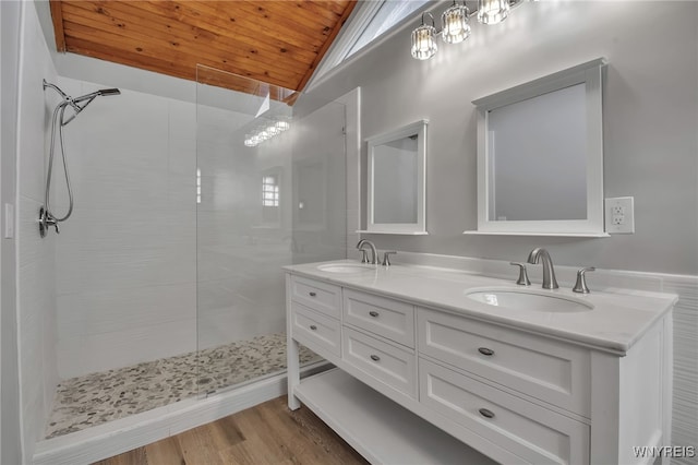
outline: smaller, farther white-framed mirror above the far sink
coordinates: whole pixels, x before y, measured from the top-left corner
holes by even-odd
[[[366,230],[374,234],[426,234],[426,126],[420,120],[366,140]]]

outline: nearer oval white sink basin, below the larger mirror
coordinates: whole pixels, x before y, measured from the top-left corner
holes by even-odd
[[[473,289],[467,291],[466,296],[490,306],[514,310],[578,312],[593,309],[591,303],[582,300],[530,289]]]

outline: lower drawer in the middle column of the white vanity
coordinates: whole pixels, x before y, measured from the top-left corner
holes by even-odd
[[[392,388],[417,398],[417,357],[347,326],[341,334],[342,360]]]

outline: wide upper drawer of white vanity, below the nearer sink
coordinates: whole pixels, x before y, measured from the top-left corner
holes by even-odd
[[[423,308],[417,321],[420,354],[590,417],[587,349]]]

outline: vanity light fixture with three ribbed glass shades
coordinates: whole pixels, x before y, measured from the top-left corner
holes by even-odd
[[[517,5],[524,0],[478,0],[478,22],[482,24],[497,24],[506,20],[509,15],[512,5]],[[424,24],[424,14],[429,14],[432,19],[432,25]],[[450,5],[441,15],[441,31],[436,29],[434,16],[429,11],[422,13],[422,24],[412,31],[412,57],[418,60],[429,60],[438,47],[436,46],[436,36],[441,34],[442,39],[446,44],[458,44],[470,37],[469,17],[470,10],[466,7],[466,2],[458,4],[454,0]]]

